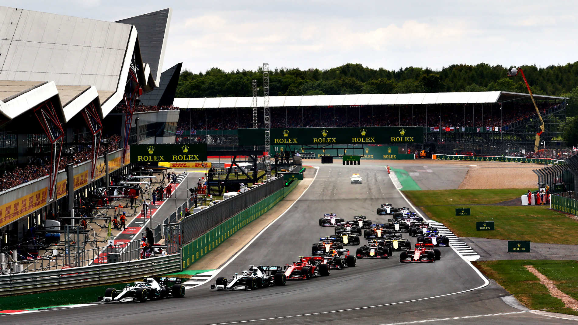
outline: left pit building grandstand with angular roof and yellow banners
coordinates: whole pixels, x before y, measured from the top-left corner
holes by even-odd
[[[0,7],[0,252],[47,219],[74,225],[81,196],[131,169],[129,144],[174,143],[178,112],[140,105],[159,87],[171,13]]]

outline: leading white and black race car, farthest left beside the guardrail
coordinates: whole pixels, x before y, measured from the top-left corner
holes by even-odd
[[[166,297],[184,297],[185,287],[181,278],[144,278],[136,281],[134,285],[127,285],[120,293],[109,287],[105,295],[98,297],[98,301],[105,302],[135,302],[156,300]]]

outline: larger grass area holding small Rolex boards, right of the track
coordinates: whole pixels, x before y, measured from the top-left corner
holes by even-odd
[[[520,197],[520,189],[422,190],[403,192],[429,218],[444,223],[458,237],[578,244],[578,222],[548,206],[475,206]],[[444,205],[449,204],[449,205]],[[455,208],[472,215],[456,216]],[[476,231],[476,221],[494,221],[494,231]]]

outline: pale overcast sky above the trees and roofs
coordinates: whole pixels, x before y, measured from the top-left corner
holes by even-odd
[[[440,69],[454,63],[578,61],[578,1],[3,0],[2,5],[116,21],[173,9],[163,70],[216,67]]]

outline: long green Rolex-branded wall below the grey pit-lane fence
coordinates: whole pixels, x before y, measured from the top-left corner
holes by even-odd
[[[232,216],[231,218],[225,220],[220,225],[214,227],[213,229],[202,234],[197,239],[193,240],[187,245],[184,245],[181,250],[181,257],[183,260],[183,269],[190,266],[196,260],[205,256],[207,253],[212,251],[221,242],[227,240],[234,233],[236,233],[242,227],[248,225],[251,221],[259,218],[265,212],[269,211],[275,204],[283,200],[295,187],[298,181],[293,181],[291,184],[285,188],[277,190],[273,193],[253,204],[249,208],[239,212],[238,214]]]

